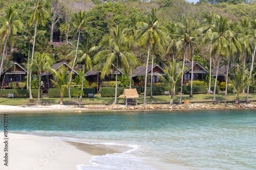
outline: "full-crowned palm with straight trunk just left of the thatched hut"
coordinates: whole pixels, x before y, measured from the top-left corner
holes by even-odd
[[[102,57],[106,57],[106,62],[101,72],[101,78],[110,73],[112,63],[116,64],[116,90],[113,104],[116,104],[117,101],[118,67],[123,67],[128,70],[129,60],[132,63],[137,63],[137,58],[131,48],[129,48],[131,41],[132,38],[126,36],[126,29],[121,30],[118,26],[116,28],[112,28],[111,35],[105,36],[100,42],[101,45],[106,45],[106,49],[98,52],[94,58],[96,62]]]

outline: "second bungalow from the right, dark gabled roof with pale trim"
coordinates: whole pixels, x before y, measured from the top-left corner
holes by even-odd
[[[187,70],[184,72],[183,83],[188,84],[188,82],[191,80],[192,63],[185,63],[185,65],[187,66]],[[193,65],[193,81],[204,81],[205,75],[209,74],[209,71],[207,71],[198,62],[194,62]]]

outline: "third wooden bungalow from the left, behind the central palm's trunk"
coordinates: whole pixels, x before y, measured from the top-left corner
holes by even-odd
[[[102,67],[103,66],[104,66],[104,64],[102,65]],[[84,74],[84,77],[86,77],[89,84],[91,84],[91,83],[97,84],[97,82],[98,83],[100,82],[100,75],[101,75],[101,70],[97,71],[97,66],[95,65],[92,70],[89,70],[86,72],[86,74]],[[118,76],[123,75],[123,72],[119,68],[117,71],[117,75]],[[105,75],[105,77],[102,81],[116,81],[115,76],[116,76],[116,67],[114,64],[112,64],[111,68],[110,68],[110,74]],[[97,79],[99,79],[99,80],[97,80]]]

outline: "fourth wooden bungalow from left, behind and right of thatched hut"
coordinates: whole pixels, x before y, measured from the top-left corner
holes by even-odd
[[[147,66],[147,75],[148,75],[147,82],[151,81],[151,69],[152,69],[152,64],[148,64],[148,66]],[[138,84],[140,83],[139,80],[137,79],[138,76],[140,76],[140,75],[145,76],[145,73],[146,73],[146,65],[138,66],[135,69],[135,74],[133,74],[133,76],[132,76],[135,86],[139,86]],[[158,74],[165,76],[165,74],[163,72],[163,68],[160,67],[158,64],[153,64],[153,83],[160,83]]]

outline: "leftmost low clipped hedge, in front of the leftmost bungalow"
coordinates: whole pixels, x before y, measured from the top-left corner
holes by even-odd
[[[38,98],[38,89],[31,89],[32,97]],[[29,90],[27,89],[1,89],[0,97],[7,98],[8,94],[14,94],[14,98],[29,98]],[[40,98],[42,96],[42,90],[40,89]]]

